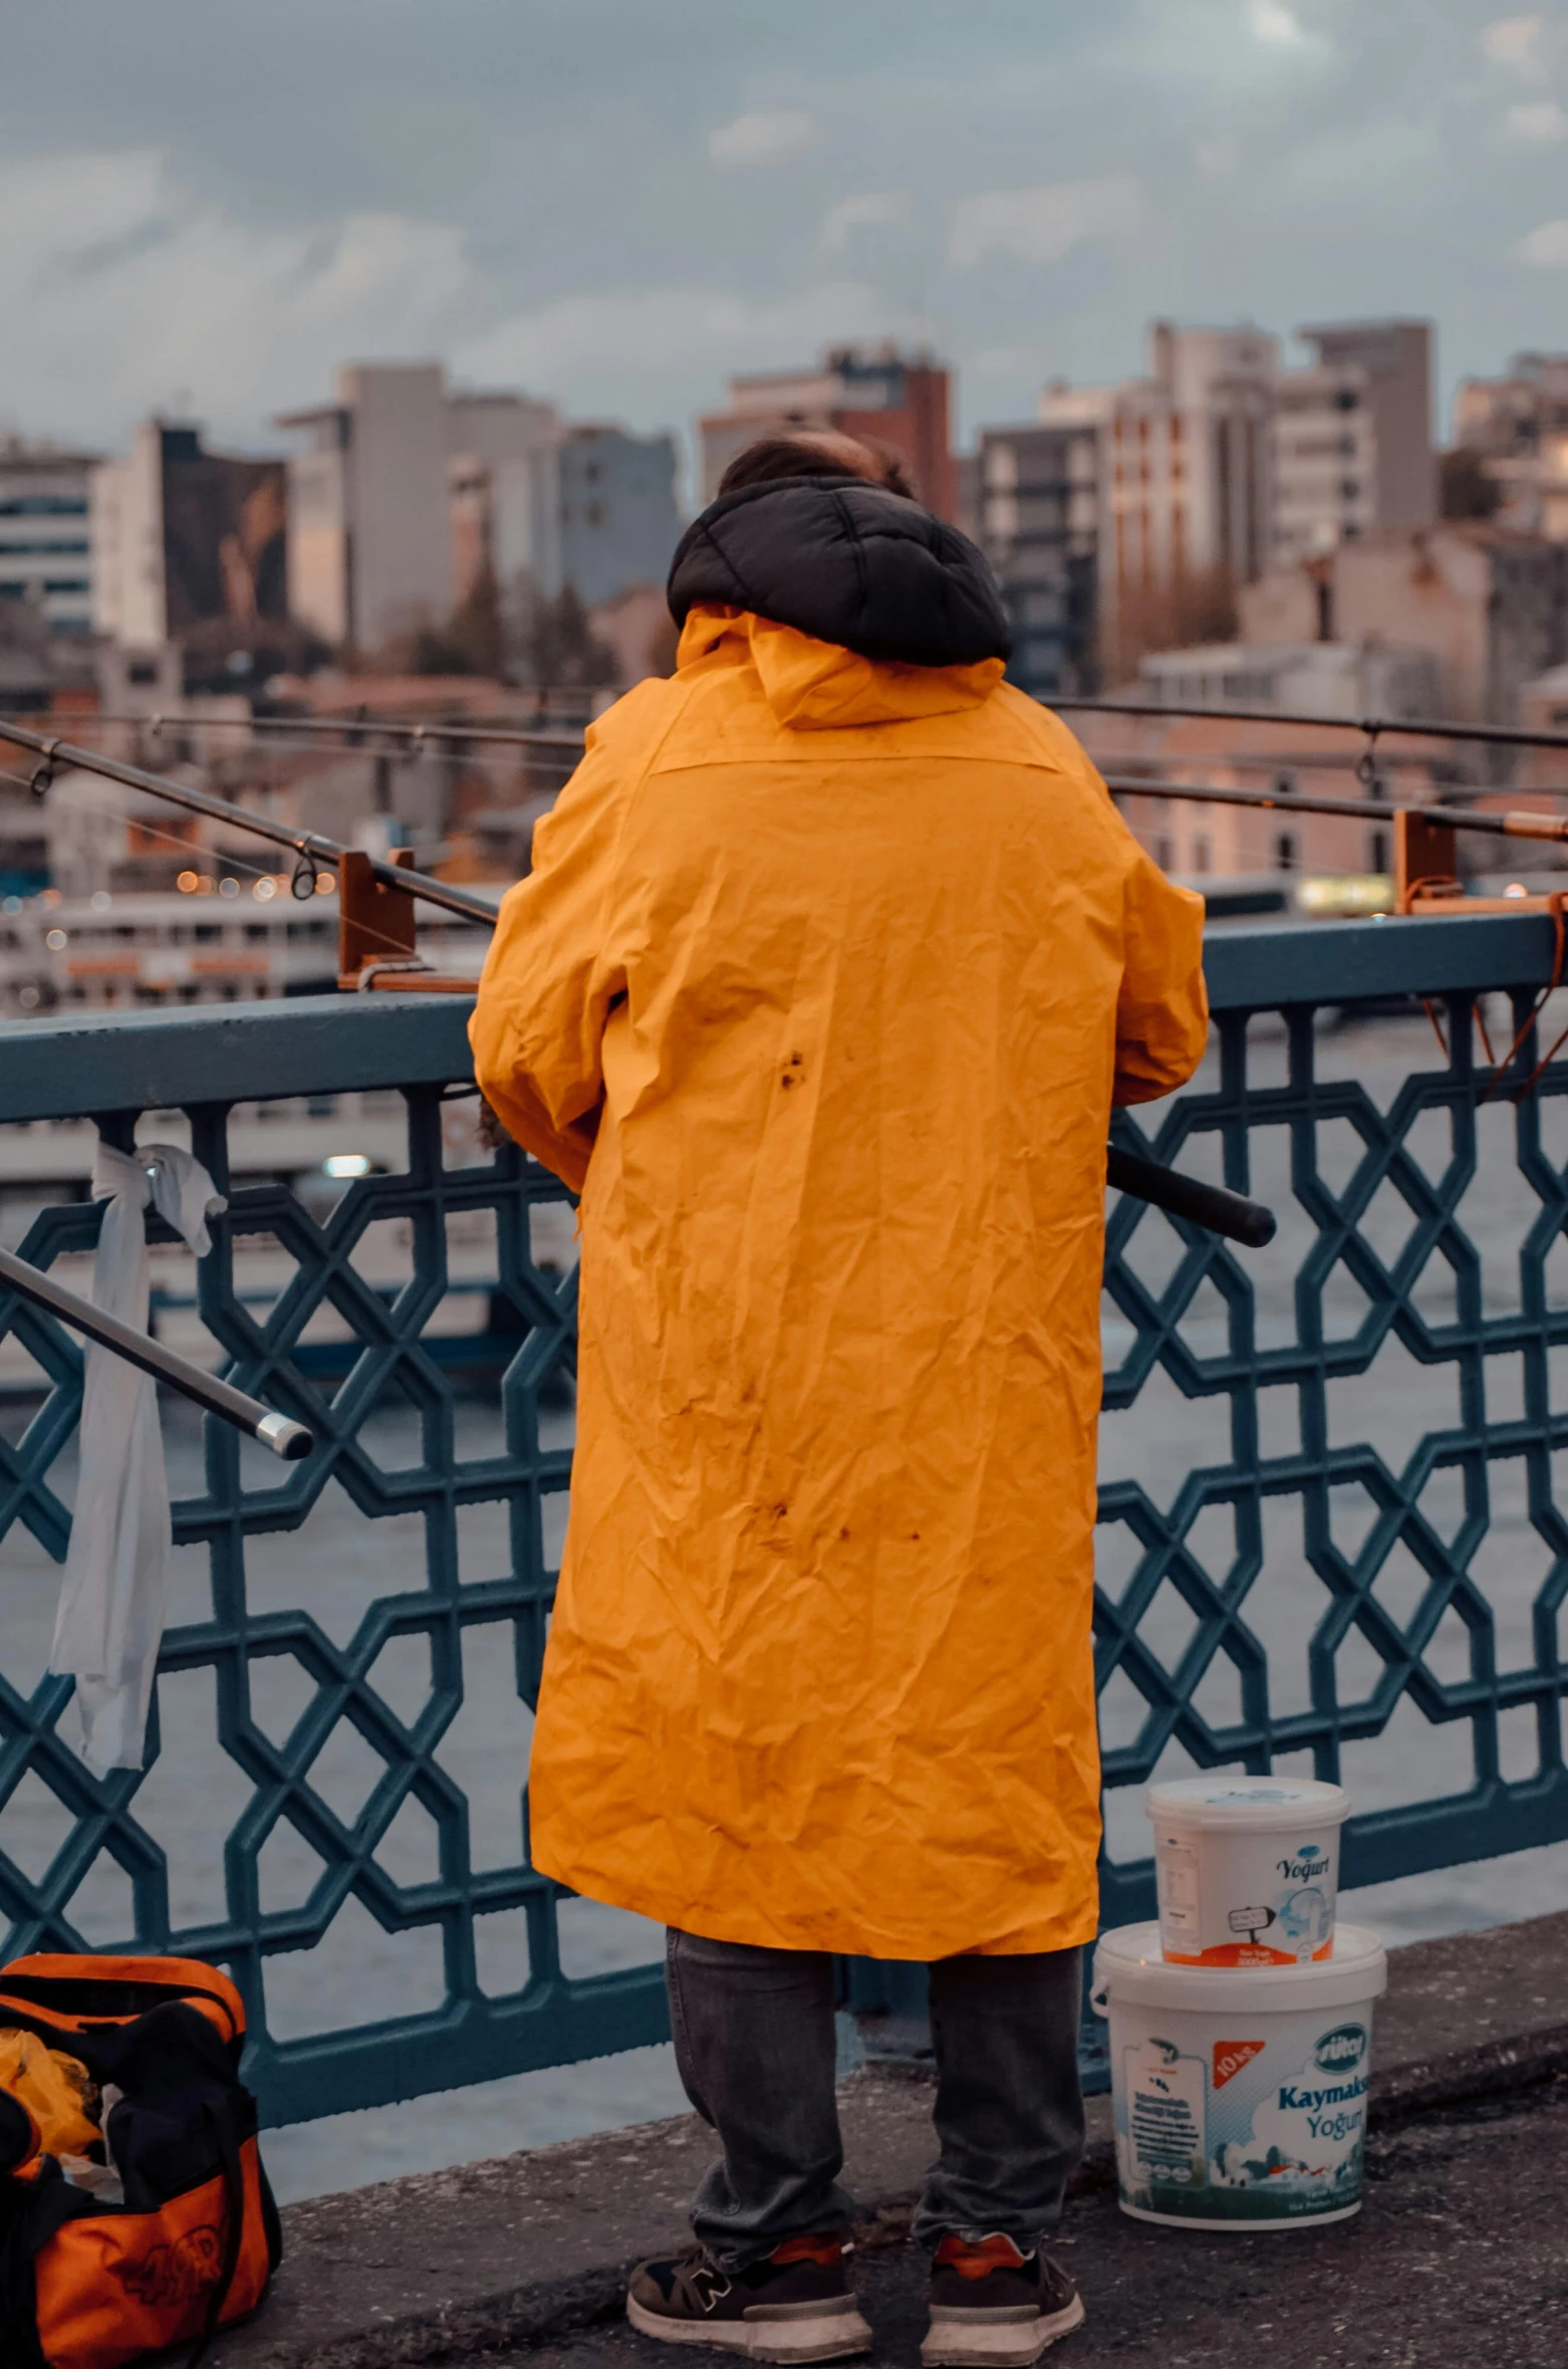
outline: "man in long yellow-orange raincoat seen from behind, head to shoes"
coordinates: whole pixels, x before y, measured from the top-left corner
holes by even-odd
[[[587,734],[474,1014],[583,1201],[540,1869],[670,1928],[722,2142],[654,2336],[865,2350],[831,1952],[931,1962],[924,2360],[1082,2319],[1106,1128],[1206,1038],[1201,903],[1002,680],[981,552],[848,438],[741,455],[670,680]]]

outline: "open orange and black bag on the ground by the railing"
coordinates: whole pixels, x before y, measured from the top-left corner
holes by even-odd
[[[0,1969],[0,2030],[33,2033],[109,2097],[109,2201],[45,2151],[0,2087],[0,2362],[123,2369],[171,2345],[194,2362],[246,2319],[282,2258],[277,2206],[239,2080],[244,2002],[185,1957],[19,1957]]]

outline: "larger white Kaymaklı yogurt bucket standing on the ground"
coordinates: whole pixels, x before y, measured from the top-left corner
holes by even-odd
[[[1383,1945],[1341,1926],[1329,1962],[1172,1966],[1161,1928],[1094,1952],[1111,2018],[1116,2182],[1132,2220],[1303,2229],[1362,2208],[1371,2002]]]

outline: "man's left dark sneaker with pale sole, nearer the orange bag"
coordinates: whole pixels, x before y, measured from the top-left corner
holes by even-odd
[[[836,2362],[872,2350],[872,2329],[836,2236],[786,2236],[748,2270],[720,2270],[701,2246],[637,2262],[625,2317],[666,2345],[722,2345],[758,2362]]]

